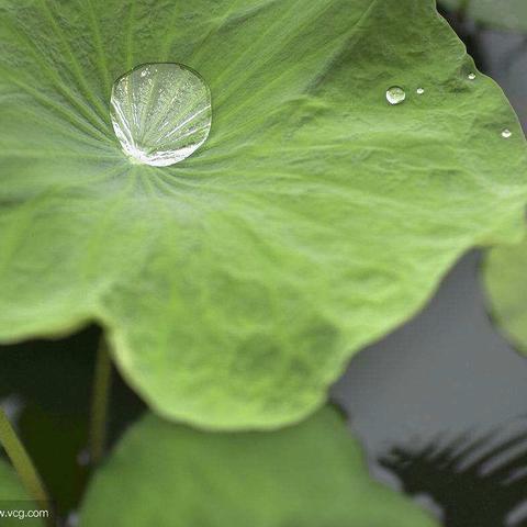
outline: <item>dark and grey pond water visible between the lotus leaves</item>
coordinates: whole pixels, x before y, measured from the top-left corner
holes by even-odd
[[[526,36],[445,14],[527,126]],[[372,472],[447,527],[527,526],[527,360],[486,315],[480,259],[467,255],[421,315],[359,354],[333,399],[349,413]],[[0,396],[61,513],[75,507],[88,476],[82,449],[98,336],[88,328],[1,348]],[[117,380],[112,405],[114,439],[143,404]]]

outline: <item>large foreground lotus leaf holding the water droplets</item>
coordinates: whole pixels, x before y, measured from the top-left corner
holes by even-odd
[[[304,417],[459,255],[518,236],[525,138],[433,0],[0,0],[0,340],[97,321],[165,416]],[[159,60],[213,96],[164,169],[108,112]]]

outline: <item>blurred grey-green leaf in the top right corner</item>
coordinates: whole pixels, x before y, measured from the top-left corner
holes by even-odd
[[[490,27],[527,31],[525,0],[439,0],[449,9],[466,9],[467,16]]]

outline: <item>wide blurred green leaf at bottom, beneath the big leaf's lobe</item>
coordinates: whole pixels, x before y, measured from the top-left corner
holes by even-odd
[[[274,433],[203,434],[148,415],[94,475],[80,527],[431,527],[373,482],[341,417]]]

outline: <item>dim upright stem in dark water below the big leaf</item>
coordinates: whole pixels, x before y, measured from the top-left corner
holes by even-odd
[[[106,422],[112,382],[112,361],[104,337],[101,336],[96,358],[96,372],[91,399],[90,463],[97,464],[104,455]]]

